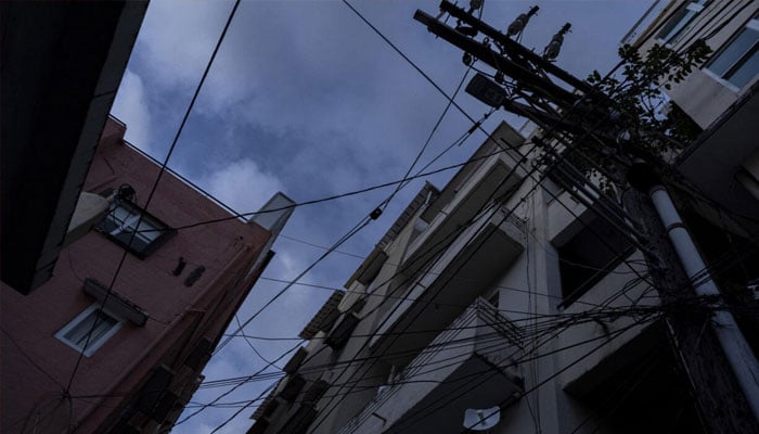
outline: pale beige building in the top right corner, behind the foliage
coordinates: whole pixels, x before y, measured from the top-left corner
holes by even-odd
[[[654,43],[685,50],[697,39],[711,58],[666,91],[705,130],[680,169],[711,197],[756,217],[759,1],[657,0],[622,42],[645,52]]]

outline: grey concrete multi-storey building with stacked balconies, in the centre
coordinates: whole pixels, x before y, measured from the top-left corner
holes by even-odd
[[[699,432],[642,255],[492,138],[317,314],[249,433]]]

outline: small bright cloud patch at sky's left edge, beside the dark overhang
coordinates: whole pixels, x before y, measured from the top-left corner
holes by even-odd
[[[141,150],[149,152],[151,148],[151,113],[145,100],[145,88],[142,78],[127,69],[121,78],[121,86],[114,102],[112,113],[127,124],[126,139]]]

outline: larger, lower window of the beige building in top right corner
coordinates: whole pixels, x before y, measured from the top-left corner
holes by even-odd
[[[738,90],[756,77],[759,73],[759,14],[715,54],[706,68]]]

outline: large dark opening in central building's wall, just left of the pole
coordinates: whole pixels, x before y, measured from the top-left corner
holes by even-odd
[[[630,240],[605,219],[596,217],[556,247],[562,282],[559,307],[567,307],[630,256]]]

